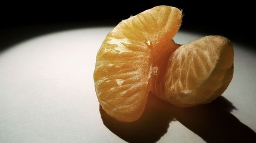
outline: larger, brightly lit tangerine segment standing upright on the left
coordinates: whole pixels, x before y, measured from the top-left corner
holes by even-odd
[[[121,21],[106,36],[97,53],[94,82],[98,101],[110,116],[132,122],[142,115],[154,59],[174,45],[181,18],[179,9],[157,6]]]

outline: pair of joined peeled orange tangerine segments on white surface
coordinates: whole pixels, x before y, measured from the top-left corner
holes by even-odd
[[[132,122],[142,115],[148,92],[181,107],[211,102],[228,87],[233,48],[221,36],[186,45],[172,39],[182,12],[157,6],[121,21],[105,38],[96,58],[94,82],[103,110]]]

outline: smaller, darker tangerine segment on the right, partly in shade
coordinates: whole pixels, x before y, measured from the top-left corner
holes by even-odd
[[[233,75],[233,47],[221,36],[206,36],[170,55],[164,89],[153,93],[181,107],[208,103],[220,96]]]

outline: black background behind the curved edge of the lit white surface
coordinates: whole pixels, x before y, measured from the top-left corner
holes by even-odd
[[[181,30],[222,35],[253,48],[254,9],[249,1],[84,1],[2,3],[0,51],[28,38],[68,28],[116,25],[158,5],[183,10]]]

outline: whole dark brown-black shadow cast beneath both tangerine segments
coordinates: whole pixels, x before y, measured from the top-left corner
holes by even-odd
[[[104,125],[128,142],[156,142],[174,119],[206,142],[256,142],[255,132],[234,117],[232,109],[236,108],[222,96],[210,104],[180,108],[150,94],[142,117],[135,122],[119,122],[101,106],[99,111]]]

